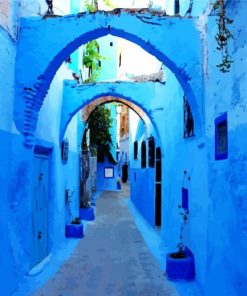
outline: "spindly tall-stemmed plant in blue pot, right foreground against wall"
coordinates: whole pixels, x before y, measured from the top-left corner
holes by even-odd
[[[189,210],[179,206],[182,222],[180,226],[178,251],[166,255],[166,274],[169,280],[193,280],[195,278],[194,255],[184,245],[183,231],[188,220]]]

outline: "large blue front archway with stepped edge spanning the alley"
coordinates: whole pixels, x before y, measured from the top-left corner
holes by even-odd
[[[191,106],[196,133],[201,135],[200,33],[194,19],[117,10],[47,20],[23,19],[21,25],[15,123],[26,146],[33,145],[39,110],[62,62],[82,44],[108,34],[139,45],[174,73]],[[32,52],[26,48],[32,48]]]

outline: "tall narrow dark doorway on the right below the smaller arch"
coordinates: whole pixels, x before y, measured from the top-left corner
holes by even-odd
[[[161,226],[161,205],[162,205],[162,183],[161,183],[161,149],[156,148],[156,160],[155,160],[155,225]]]

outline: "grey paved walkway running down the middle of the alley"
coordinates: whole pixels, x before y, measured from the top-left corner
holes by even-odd
[[[96,220],[35,296],[178,296],[145,245],[121,193],[97,200]]]

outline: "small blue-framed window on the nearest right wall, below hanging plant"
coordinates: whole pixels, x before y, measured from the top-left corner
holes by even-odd
[[[215,119],[215,159],[228,157],[228,128],[227,113]]]

